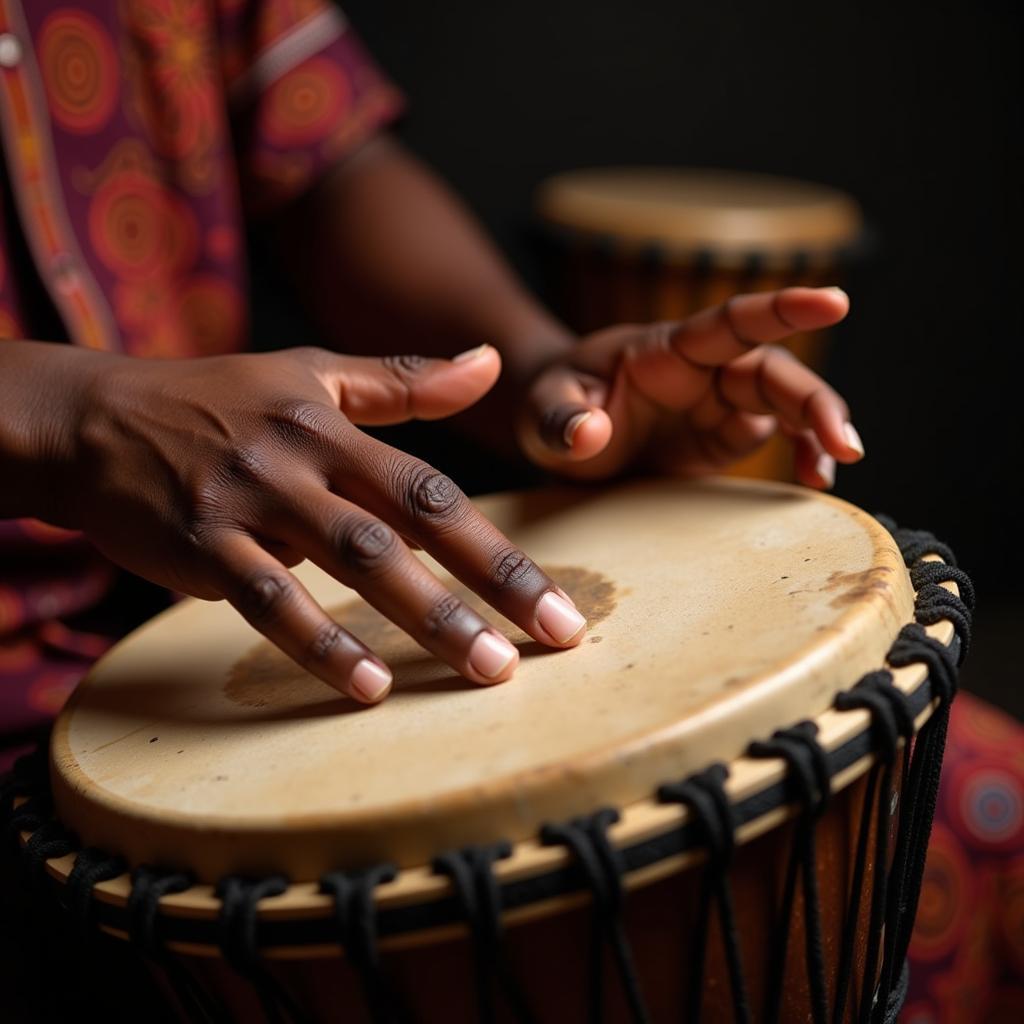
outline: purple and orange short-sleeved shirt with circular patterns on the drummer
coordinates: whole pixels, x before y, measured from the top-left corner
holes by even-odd
[[[330,0],[0,0],[0,339],[244,348],[246,223],[400,102]],[[129,621],[123,575],[0,521],[0,733],[50,717]]]

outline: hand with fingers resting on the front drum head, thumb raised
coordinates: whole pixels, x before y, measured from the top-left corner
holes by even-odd
[[[489,346],[456,359],[292,349],[150,360],[101,357],[69,462],[61,525],[113,561],[226,598],[321,679],[373,702],[391,676],[289,571],[310,558],[457,672],[512,675],[518,653],[413,554],[415,542],[541,643],[585,623],[554,583],[446,476],[355,424],[465,409],[501,371]]]

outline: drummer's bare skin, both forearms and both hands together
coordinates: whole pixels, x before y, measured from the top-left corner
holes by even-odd
[[[496,445],[587,479],[637,461],[698,475],[776,429],[794,438],[812,486],[831,482],[834,460],[863,454],[843,400],[774,345],[841,319],[838,290],[740,296],[682,324],[574,340],[444,186],[387,139],[280,228],[284,262],[336,347],[419,355],[139,360],[5,343],[0,516],[82,529],[140,575],[226,598],[357,700],[382,699],[390,674],[291,573],[303,558],[478,683],[509,678],[515,649],[407,542],[540,642],[572,646],[584,633],[566,595],[455,483],[359,426],[473,406],[474,429]]]

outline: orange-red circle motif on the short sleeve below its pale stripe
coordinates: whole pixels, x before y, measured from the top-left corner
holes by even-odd
[[[266,137],[275,145],[307,145],[326,138],[351,99],[340,69],[325,57],[311,57],[279,79],[263,100]]]

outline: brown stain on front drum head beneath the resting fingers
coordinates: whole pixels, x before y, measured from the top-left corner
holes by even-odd
[[[567,593],[589,628],[607,618],[621,596],[607,577],[575,565],[545,566],[548,575]],[[459,583],[452,593],[494,623],[518,648],[522,658],[541,656],[551,648],[537,643],[518,627],[502,620],[480,597]],[[395,690],[461,689],[474,686],[425,651],[415,640],[366,602],[355,598],[328,609],[345,629],[380,655],[394,673]],[[326,684],[296,665],[268,641],[261,641],[231,667],[224,694],[244,708],[288,709],[323,701]]]

